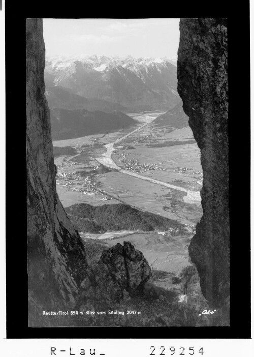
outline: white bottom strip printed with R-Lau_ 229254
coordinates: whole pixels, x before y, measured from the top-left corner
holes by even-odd
[[[135,328],[134,328],[135,329]],[[145,329],[145,328],[144,328]],[[149,329],[149,328],[147,328]],[[198,328],[197,328],[198,329]],[[94,336],[96,336],[94,328]],[[22,357],[50,357],[51,347],[56,347],[55,355],[61,357],[70,356],[70,347],[75,356],[80,356],[81,349],[85,350],[85,356],[90,356],[90,349],[96,350],[95,357],[100,357],[104,353],[105,357],[150,357],[150,353],[155,347],[154,357],[161,357],[161,346],[165,347],[165,357],[170,357],[170,347],[174,346],[176,352],[174,357],[180,356],[184,347],[184,356],[190,356],[189,347],[194,347],[194,357],[253,357],[253,340],[238,339],[30,339],[30,340],[5,340],[5,356]],[[197,331],[198,334],[198,331]],[[204,353],[199,353],[203,347]],[[66,352],[60,352],[66,350]],[[2,350],[3,351],[3,350]],[[190,352],[192,353],[192,352]]]

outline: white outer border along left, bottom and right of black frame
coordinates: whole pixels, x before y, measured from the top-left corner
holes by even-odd
[[[1,118],[1,130],[0,130],[0,160],[5,162],[5,3],[3,2],[3,11],[0,11],[0,118]],[[242,19],[247,21],[247,19]],[[254,65],[254,4],[250,1],[250,51],[251,51],[251,65]],[[240,26],[240,23],[236,25]],[[243,34],[244,36],[244,34]],[[244,64],[243,64],[244,65]],[[251,70],[251,103],[254,103],[254,77],[253,70]],[[244,89],[243,89],[244,90]],[[254,123],[254,109],[253,105],[251,107],[251,131],[253,132]],[[251,158],[254,156],[253,148],[253,136],[251,137]],[[0,185],[5,187],[5,165],[2,165],[2,171],[0,175]],[[253,187],[253,160],[251,162],[251,188]],[[69,356],[70,346],[72,347],[72,352],[76,353],[76,356],[80,355],[80,349],[85,349],[85,355],[88,356],[89,349],[96,348],[96,356],[100,353],[105,353],[106,357],[148,357],[150,355],[150,346],[154,346],[156,349],[156,356],[160,355],[160,347],[165,346],[165,356],[170,356],[170,346],[175,346],[178,348],[178,353],[174,356],[179,355],[179,347],[185,347],[185,356],[189,355],[188,347],[195,346],[195,356],[199,357],[201,353],[198,352],[199,348],[203,346],[204,354],[203,357],[253,357],[254,355],[254,345],[253,340],[239,340],[239,339],[170,339],[170,328],[168,339],[6,339],[6,264],[5,264],[5,189],[1,190],[0,199],[0,219],[1,219],[1,237],[0,237],[0,354],[5,356],[18,356],[18,357],[47,357],[50,356],[50,347],[55,346],[57,348],[56,355],[58,356]],[[253,190],[251,190],[251,204],[253,203]],[[253,210],[251,211],[251,223],[254,222]],[[251,242],[253,238],[253,230],[251,230]],[[248,237],[247,237],[248,239]],[[253,276],[253,242],[251,243],[252,253],[251,253],[251,276]],[[244,287],[243,287],[244,289]],[[251,295],[253,297],[253,286],[251,286]],[[244,313],[244,295],[239,296],[239,309],[242,309]],[[251,307],[253,306],[253,299]],[[17,301],[18,306],[18,301]],[[251,309],[251,317],[253,317],[253,308]],[[18,318],[18,315],[17,315]],[[253,320],[251,318],[251,320]],[[239,326],[241,329],[241,326]],[[145,333],[145,328],[144,328]],[[198,333],[198,328],[197,328]],[[253,336],[253,326],[251,328],[251,336]],[[94,328],[94,337],[96,337],[96,328]],[[113,336],[112,336],[113,337]],[[66,349],[67,352],[59,352],[60,349]]]

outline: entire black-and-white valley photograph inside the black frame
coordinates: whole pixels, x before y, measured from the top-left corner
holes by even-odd
[[[230,326],[227,18],[26,19],[29,327]]]

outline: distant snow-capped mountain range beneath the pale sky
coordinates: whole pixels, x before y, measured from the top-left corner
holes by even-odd
[[[173,61],[131,55],[46,57],[45,83],[130,109],[168,110],[180,101]]]

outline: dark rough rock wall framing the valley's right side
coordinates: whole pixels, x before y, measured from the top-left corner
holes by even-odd
[[[211,307],[229,307],[229,161],[226,19],[181,19],[178,93],[201,149],[203,217],[189,246]]]

